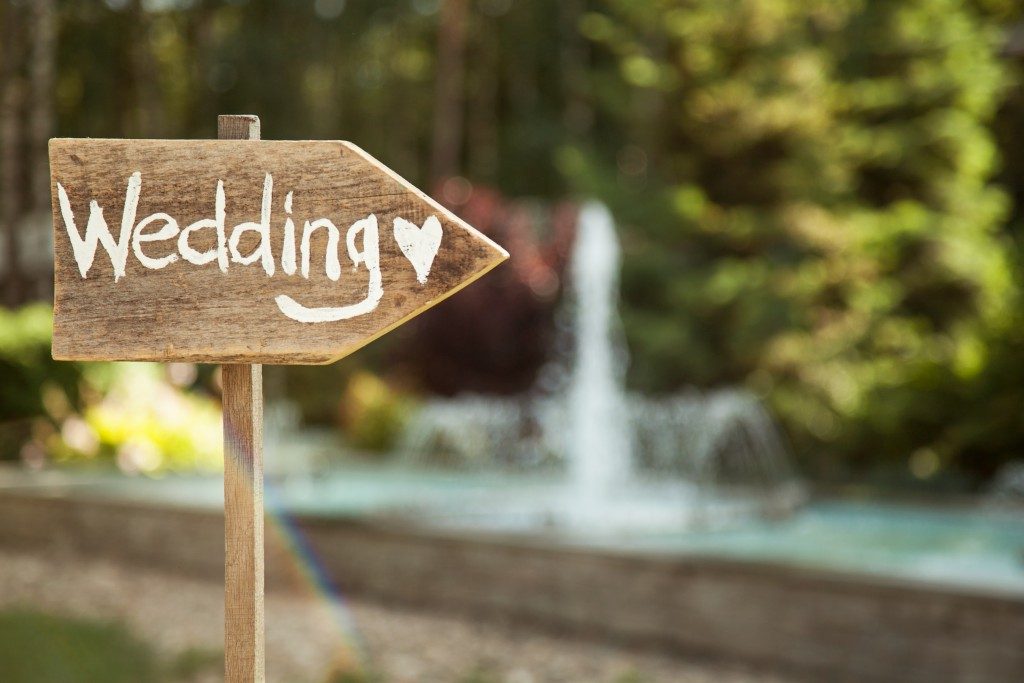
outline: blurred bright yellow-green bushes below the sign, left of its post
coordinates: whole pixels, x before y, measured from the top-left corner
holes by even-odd
[[[169,381],[178,365],[56,362],[51,327],[49,306],[0,309],[0,459],[133,473],[222,466],[220,408]]]

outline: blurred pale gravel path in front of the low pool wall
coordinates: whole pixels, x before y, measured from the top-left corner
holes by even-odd
[[[222,646],[223,589],[213,582],[0,550],[0,607],[119,618],[169,656]],[[357,625],[356,638],[346,635],[345,621]],[[362,645],[353,647],[355,640]],[[337,610],[315,595],[289,592],[266,597],[266,650],[267,678],[275,682],[327,683],[361,650],[387,683],[783,683],[738,668],[361,600]]]

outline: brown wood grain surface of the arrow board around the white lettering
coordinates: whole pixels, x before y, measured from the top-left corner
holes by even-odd
[[[240,134],[252,122],[222,124]],[[255,124],[258,126],[258,123]],[[343,141],[251,140],[50,140],[54,197],[53,357],[75,360],[191,360],[206,362],[324,364],[342,357],[433,306],[508,257],[501,247],[417,190],[368,154]],[[182,259],[160,270],[144,267],[129,249],[125,275],[115,282],[102,247],[86,278],[75,260],[56,200],[67,190],[75,222],[84,233],[89,202],[103,208],[117,239],[129,176],[141,173],[137,221],[157,212],[179,227],[214,217],[218,180],[224,181],[225,228],[259,221],[263,181],[273,178],[270,243],[275,271],[259,263],[216,261],[194,265]],[[325,272],[325,230],[311,242],[309,278],[282,268],[285,196],[294,193],[293,218],[301,234],[305,220],[328,218],[341,231],[340,280]],[[288,295],[305,306],[344,306],[367,294],[368,273],[353,268],[345,232],[374,214],[380,232],[384,295],[368,314],[335,323],[300,323],[282,313],[274,297]],[[395,218],[422,225],[436,216],[439,251],[425,284],[392,233]],[[154,226],[154,229],[158,227]],[[201,237],[201,233],[205,236]],[[256,245],[243,240],[243,253]],[[247,238],[247,239],[248,239]],[[205,240],[205,242],[204,242]],[[298,240],[297,240],[298,241]],[[216,244],[214,230],[195,233],[200,251]],[[151,257],[176,253],[176,241],[144,246]]]

